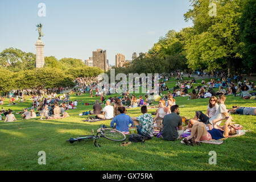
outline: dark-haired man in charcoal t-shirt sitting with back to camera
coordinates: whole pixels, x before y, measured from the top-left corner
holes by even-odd
[[[180,135],[184,133],[184,130],[182,129],[182,119],[179,116],[179,106],[171,106],[171,112],[171,114],[166,114],[164,116],[163,130],[159,133],[165,140],[180,139]]]

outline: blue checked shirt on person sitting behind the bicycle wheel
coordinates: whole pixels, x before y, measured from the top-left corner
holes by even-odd
[[[114,123],[116,125],[115,129],[118,131],[129,131],[129,124],[133,126],[133,120],[129,115],[126,115],[125,113],[121,113],[114,117],[110,122],[110,126],[114,127]]]

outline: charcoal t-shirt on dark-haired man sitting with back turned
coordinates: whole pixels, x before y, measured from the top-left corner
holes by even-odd
[[[182,119],[176,113],[166,114],[163,118],[162,136],[165,140],[176,140],[179,137],[177,126],[182,125]]]

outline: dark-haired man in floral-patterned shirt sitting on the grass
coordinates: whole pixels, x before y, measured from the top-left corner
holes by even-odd
[[[141,107],[142,115],[138,117],[132,117],[133,125],[137,127],[138,134],[149,134],[150,136],[154,133],[154,122],[151,114],[147,113],[147,106]]]

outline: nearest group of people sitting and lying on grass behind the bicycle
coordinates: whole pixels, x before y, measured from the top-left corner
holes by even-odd
[[[157,137],[165,140],[181,139],[181,134],[185,130],[190,130],[191,135],[184,138],[185,144],[199,144],[201,140],[221,139],[234,135],[236,127],[232,122],[232,116],[229,113],[237,114],[256,114],[256,107],[237,107],[226,109],[226,96],[219,95],[218,98],[212,96],[209,98],[207,112],[196,111],[195,117],[189,119],[188,125],[183,126],[182,118],[179,116],[179,106],[175,104],[174,98],[170,96],[166,106],[166,101],[159,101],[159,109],[153,118],[152,114],[147,113],[147,106],[141,106],[141,113],[138,117],[130,117],[126,114],[125,106],[110,105],[110,101],[106,102],[103,113],[97,114],[98,118],[112,119],[110,126],[129,134],[129,127],[137,127],[138,134],[153,135],[154,131],[159,129]],[[100,110],[99,110],[100,111]],[[224,126],[220,126],[225,121]],[[195,139],[194,139],[195,138]]]

